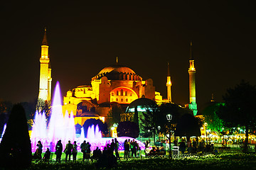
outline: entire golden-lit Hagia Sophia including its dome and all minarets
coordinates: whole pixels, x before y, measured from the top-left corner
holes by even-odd
[[[38,98],[50,102],[52,78],[48,47],[45,29],[41,45]],[[196,115],[196,69],[192,55],[192,42],[190,53],[190,65],[188,68],[190,102],[183,107],[190,108],[193,111],[193,115]],[[95,74],[95,77],[92,77],[90,86],[80,85],[75,89],[67,91],[63,97],[63,112],[68,111],[68,113],[71,113],[72,111],[75,117],[75,124],[83,125],[85,120],[90,118],[100,119],[102,122],[105,122],[107,115],[114,105],[121,106],[125,111],[125,108],[138,100],[154,101],[158,105],[161,105],[161,103],[172,103],[169,64],[167,70],[167,98],[162,98],[161,94],[155,91],[152,79],[143,80],[134,70],[119,64],[117,58],[114,64],[101,69],[99,73]]]

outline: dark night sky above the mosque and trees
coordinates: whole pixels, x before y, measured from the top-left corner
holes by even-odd
[[[0,6],[4,101],[38,97],[41,42],[48,29],[53,88],[90,84],[119,63],[153,79],[166,98],[170,62],[172,98],[188,103],[189,42],[193,40],[198,106],[222,101],[241,79],[255,85],[256,18],[253,1],[4,1]],[[3,4],[4,3],[4,4]]]

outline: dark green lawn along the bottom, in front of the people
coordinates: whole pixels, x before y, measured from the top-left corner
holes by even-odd
[[[95,161],[82,162],[81,159],[78,162],[63,162],[61,164],[56,164],[55,162],[51,162],[50,164],[39,162],[31,164],[29,169],[96,169],[95,163]],[[172,160],[166,157],[121,159],[117,162],[117,167],[114,169],[256,169],[256,155],[255,153],[221,153]]]

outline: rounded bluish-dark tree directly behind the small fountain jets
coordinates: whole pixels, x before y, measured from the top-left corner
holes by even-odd
[[[108,129],[107,129],[107,124],[106,123],[102,123],[102,120],[100,119],[88,119],[85,121],[85,123],[82,125],[82,128],[84,128],[84,132],[85,132],[85,137],[87,137],[87,129],[91,126],[91,125],[96,125],[99,126],[100,131],[107,135],[108,134]]]

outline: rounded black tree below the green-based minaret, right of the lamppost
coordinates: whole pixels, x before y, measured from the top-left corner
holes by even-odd
[[[181,119],[178,120],[176,130],[174,131],[175,136],[187,137],[187,141],[192,136],[201,136],[200,125],[198,119],[192,114],[184,114]]]

